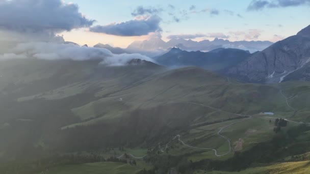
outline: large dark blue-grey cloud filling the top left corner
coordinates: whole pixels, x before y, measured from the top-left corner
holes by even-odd
[[[62,0],[0,1],[2,30],[58,33],[89,27],[93,23],[94,20],[79,12],[76,4],[65,4]]]

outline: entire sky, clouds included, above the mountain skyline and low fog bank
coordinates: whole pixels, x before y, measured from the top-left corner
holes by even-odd
[[[310,0],[0,0],[0,42],[64,39],[123,48],[154,38],[276,42],[309,19]]]

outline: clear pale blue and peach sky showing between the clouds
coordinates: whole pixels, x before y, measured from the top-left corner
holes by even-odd
[[[148,15],[157,15],[162,19],[159,23],[162,29],[160,33],[162,34],[162,39],[166,41],[169,35],[182,34],[203,34],[205,35],[204,37],[193,40],[213,40],[214,36],[220,33],[232,41],[277,41],[295,35],[303,27],[310,24],[309,1],[295,0],[295,2],[300,3],[297,5],[280,4],[283,2],[291,3],[294,0],[270,0],[269,3],[271,5],[277,1],[279,1],[278,7],[269,8],[266,5],[264,8],[256,10],[248,10],[252,0],[71,0],[70,2],[79,5],[80,12],[86,15],[87,18],[95,19],[97,22],[94,25],[101,26],[114,22],[120,23],[134,20],[135,16],[132,13],[139,6],[146,9],[161,9],[159,13]],[[65,2],[69,3],[69,1]],[[191,6],[195,8],[190,10]],[[216,11],[216,13],[211,14],[212,11]],[[179,21],[176,22],[174,17],[179,19]],[[94,45],[101,42],[120,47],[126,47],[135,40],[148,39],[152,35],[152,33],[149,33],[143,36],[115,36],[107,33],[109,33],[107,30],[103,33],[93,33],[89,32],[87,28],[80,28],[61,33],[61,35],[66,40],[79,44]]]

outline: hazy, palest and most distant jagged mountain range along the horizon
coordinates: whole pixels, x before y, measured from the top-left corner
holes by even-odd
[[[112,53],[141,53],[150,57],[159,56],[169,51],[172,47],[177,47],[185,51],[211,51],[217,48],[235,48],[248,50],[251,53],[261,51],[273,44],[270,41],[235,41],[215,38],[213,41],[193,41],[191,39],[171,39],[168,42],[160,38],[151,38],[144,41],[135,41],[127,48],[112,47],[108,44],[98,43],[94,47],[109,49]]]

